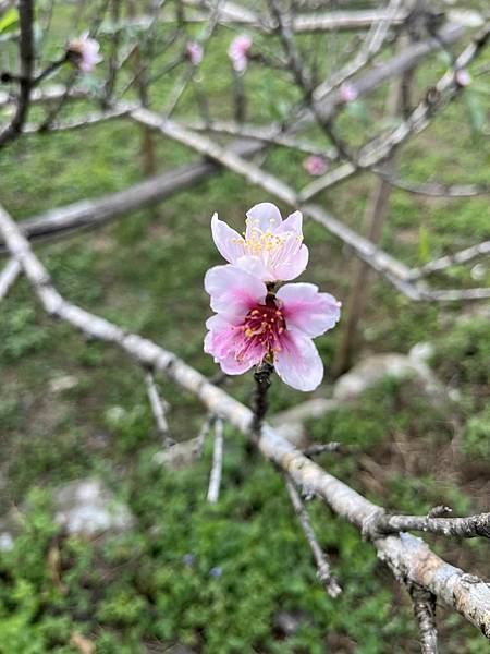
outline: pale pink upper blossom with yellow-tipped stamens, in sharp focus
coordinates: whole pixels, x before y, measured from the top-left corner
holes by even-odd
[[[255,272],[261,281],[289,281],[301,275],[308,263],[308,249],[303,244],[301,211],[282,220],[278,207],[262,202],[247,211],[243,235],[215,214],[211,231],[220,254],[238,267],[255,259]],[[248,263],[247,263],[248,261]]]

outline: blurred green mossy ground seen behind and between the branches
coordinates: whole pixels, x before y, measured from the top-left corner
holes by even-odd
[[[217,117],[226,108],[230,78],[222,61],[229,38],[229,33],[218,35],[203,71]],[[419,76],[420,88],[442,70],[434,57]],[[246,84],[254,98],[250,114],[265,122],[267,116],[275,118],[278,97],[283,102],[294,98],[279,76],[254,68]],[[481,86],[479,78],[476,84]],[[163,81],[158,93],[169,86]],[[482,93],[468,93],[485,102]],[[367,104],[371,120],[381,100],[380,93]],[[184,97],[181,114],[189,114],[191,106],[192,97]],[[362,126],[348,113],[341,125],[353,138]],[[171,142],[157,137],[155,143],[159,170],[195,158]],[[140,130],[125,120],[22,138],[0,155],[1,201],[22,219],[123,189],[143,177],[139,144]],[[307,181],[302,157],[291,152],[274,149],[266,166],[295,184]],[[464,95],[401,158],[403,174],[419,181],[478,182],[486,167],[488,149],[482,135],[471,132]],[[372,183],[369,175],[359,175],[319,201],[360,228]],[[157,208],[39,245],[37,252],[68,299],[212,375],[216,366],[203,353],[209,315],[203,277],[220,257],[209,219],[218,211],[240,226],[245,210],[264,199],[272,198],[223,172]],[[317,225],[306,225],[305,238],[311,265],[303,278],[346,300],[352,253]],[[416,265],[485,238],[490,238],[487,198],[428,199],[395,191],[382,245]],[[471,283],[461,270],[452,281]],[[485,281],[488,269],[479,283]],[[321,463],[399,511],[424,513],[437,504],[461,514],[488,510],[488,324],[481,305],[411,304],[373,279],[363,351],[406,352],[430,340],[434,370],[460,391],[461,402],[449,415],[415,386],[387,380],[354,407],[309,425],[315,440],[353,447],[351,455],[328,455]],[[342,324],[317,341],[327,365],[341,332]],[[209,444],[203,461],[189,469],[156,468],[151,458],[159,445],[143,371],[119,351],[46,317],[25,280],[0,304],[0,508],[25,506],[29,499],[25,530],[13,552],[0,558],[2,654],[73,653],[74,632],[93,640],[97,652],[114,654],[163,652],[176,642],[207,654],[417,651],[404,591],[353,528],[314,501],[309,509],[319,540],[344,589],[335,601],[326,596],[281,479],[250,455],[238,434],[226,428],[223,489],[216,507],[205,501]],[[75,376],[76,386],[54,392],[50,383],[65,375]],[[164,378],[159,383],[172,407],[173,437],[195,436],[201,408]],[[252,378],[235,379],[228,388],[247,402]],[[318,395],[328,392],[327,376]],[[272,412],[303,399],[274,380]],[[114,407],[122,410],[114,412]],[[441,457],[454,438],[454,456]],[[60,537],[49,509],[51,489],[89,475],[101,476],[128,502],[137,517],[130,533],[95,543]],[[486,544],[428,540],[451,562],[488,574]],[[184,561],[186,554],[194,562]],[[215,567],[221,568],[220,577],[209,574]],[[274,626],[281,610],[303,617],[293,635]],[[454,614],[440,609],[439,623],[444,652],[485,651],[485,639]]]

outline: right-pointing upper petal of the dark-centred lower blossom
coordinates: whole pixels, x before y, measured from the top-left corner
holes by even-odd
[[[287,329],[294,327],[311,338],[331,329],[340,318],[340,303],[319,293],[314,283],[286,283],[277,293]]]

